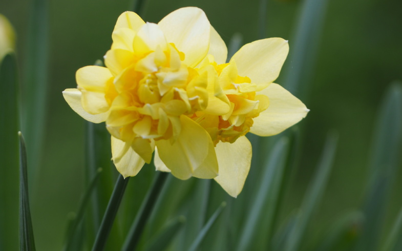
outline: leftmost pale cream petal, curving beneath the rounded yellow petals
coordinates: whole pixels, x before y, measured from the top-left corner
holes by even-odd
[[[106,121],[109,116],[109,111],[95,115],[86,112],[82,108],[81,92],[78,89],[66,89],[63,92],[63,97],[66,99],[67,103],[74,110],[74,112],[78,113],[79,116],[90,122],[100,123]]]

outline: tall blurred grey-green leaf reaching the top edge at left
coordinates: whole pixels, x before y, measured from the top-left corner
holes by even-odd
[[[48,93],[48,48],[49,15],[48,1],[35,0],[31,3],[30,27],[26,41],[27,55],[24,71],[23,132],[27,139],[30,186],[35,187],[38,163],[43,153],[46,101]],[[35,197],[35,193],[33,194]]]

